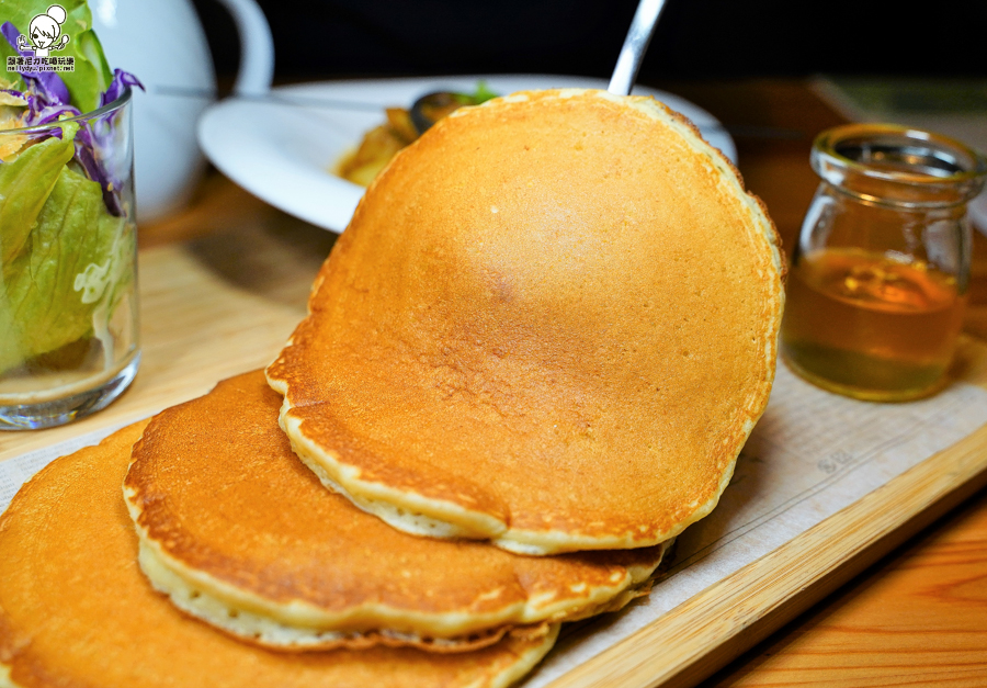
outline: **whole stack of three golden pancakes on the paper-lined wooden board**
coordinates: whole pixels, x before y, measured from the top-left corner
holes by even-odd
[[[653,100],[457,111],[367,191],[266,375],[18,494],[0,687],[514,683],[716,505],[782,273]]]

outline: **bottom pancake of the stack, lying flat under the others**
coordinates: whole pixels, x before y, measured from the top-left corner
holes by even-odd
[[[143,425],[55,461],[0,517],[0,686],[499,687],[552,646],[555,625],[472,653],[287,654],[189,619],[137,568],[120,485]]]

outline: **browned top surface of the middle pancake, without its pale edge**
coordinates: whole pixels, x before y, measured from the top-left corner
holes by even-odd
[[[475,614],[519,622],[510,608],[543,595],[578,612],[594,588],[619,593],[626,566],[660,561],[659,548],[536,559],[399,532],[319,484],[277,425],[280,403],[258,371],[150,422],[125,484],[164,554],[273,602],[364,608],[345,630],[430,632],[400,616],[465,614],[458,633],[489,625]]]

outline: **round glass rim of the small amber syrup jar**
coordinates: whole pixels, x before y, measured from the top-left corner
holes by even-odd
[[[911,144],[917,148],[927,150],[946,151],[953,158],[951,165],[956,168],[956,171],[945,174],[933,174],[920,171],[918,166],[916,166],[915,171],[907,170],[907,168],[880,169],[872,163],[855,160],[841,153],[841,147],[846,147],[851,142],[874,142],[877,144],[881,139],[885,142],[897,139],[903,148],[905,145]],[[886,143],[885,145],[893,146],[894,144]],[[848,172],[863,177],[905,184],[929,184],[942,188],[944,185],[968,183],[987,177],[987,158],[966,144],[942,134],[897,124],[844,124],[826,129],[813,142],[813,168],[816,172],[820,172],[818,162],[821,162],[821,160],[817,161],[816,158],[821,156],[826,158],[827,167],[844,168]],[[935,157],[945,162],[942,157]],[[965,166],[961,165],[958,160],[964,160]]]

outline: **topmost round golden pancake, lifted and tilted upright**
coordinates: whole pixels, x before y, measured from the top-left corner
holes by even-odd
[[[268,380],[299,456],[396,528],[650,546],[713,509],[764,409],[783,272],[680,115],[515,93],[377,177]]]

